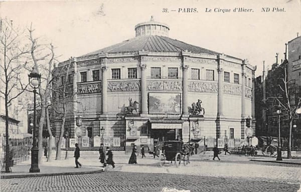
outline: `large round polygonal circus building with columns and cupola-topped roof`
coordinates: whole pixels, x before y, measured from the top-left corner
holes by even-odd
[[[255,134],[256,67],[170,38],[169,30],[152,17],[135,26],[134,38],[58,64],[54,84],[68,94],[54,92],[54,107],[66,106],[70,147],[103,142],[127,150],[134,142],[152,150],[176,139],[236,147]],[[56,135],[61,116],[53,121]]]

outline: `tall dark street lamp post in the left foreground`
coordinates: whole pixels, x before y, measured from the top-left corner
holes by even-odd
[[[33,67],[33,71],[28,75],[29,84],[34,88],[34,130],[33,130],[33,147],[31,149],[31,167],[29,172],[40,172],[39,168],[39,148],[37,143],[37,114],[36,114],[36,93],[41,84],[41,74],[38,73],[37,69]]]

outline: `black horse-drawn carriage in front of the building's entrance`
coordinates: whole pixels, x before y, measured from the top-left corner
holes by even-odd
[[[189,163],[189,148],[183,144],[182,141],[169,140],[165,141],[162,146],[162,153],[160,157],[160,165],[163,166],[166,161],[171,161],[176,166]]]

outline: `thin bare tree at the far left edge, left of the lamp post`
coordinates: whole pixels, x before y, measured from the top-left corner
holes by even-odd
[[[5,99],[5,126],[6,126],[6,172],[9,167],[9,110],[14,99],[20,96],[28,86],[22,82],[22,72],[27,67],[26,44],[23,43],[23,32],[13,27],[11,21],[1,19],[0,26],[0,95]]]

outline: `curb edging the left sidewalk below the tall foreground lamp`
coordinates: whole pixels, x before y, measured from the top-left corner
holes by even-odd
[[[54,172],[54,173],[35,173],[35,174],[15,174],[15,175],[1,175],[0,178],[26,178],[38,176],[57,176],[57,175],[73,175],[73,174],[92,174],[102,172],[100,170],[79,171],[79,172]]]

